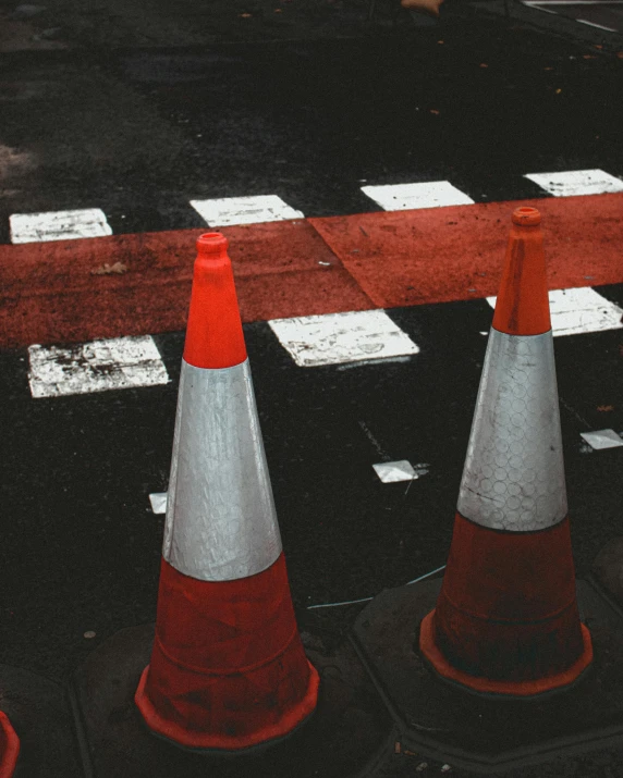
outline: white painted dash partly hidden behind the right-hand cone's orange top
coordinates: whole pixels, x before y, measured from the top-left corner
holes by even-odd
[[[487,297],[491,308],[496,307],[496,299]],[[549,293],[549,307],[554,337],[623,328],[623,309],[590,286],[552,289]]]

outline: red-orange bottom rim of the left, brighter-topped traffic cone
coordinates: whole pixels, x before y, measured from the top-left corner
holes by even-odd
[[[248,753],[283,741],[302,727],[316,709],[318,700],[318,687],[320,678],[316,668],[308,662],[309,682],[307,692],[303,700],[288,712],[277,724],[264,727],[255,732],[244,736],[227,737],[223,734],[210,734],[204,732],[193,733],[175,725],[173,721],[162,718],[146,692],[147,675],[149,665],[143,670],[141,681],[134,696],[145,724],[152,734],[169,741],[173,745],[186,751],[195,751],[206,754],[215,753]]]

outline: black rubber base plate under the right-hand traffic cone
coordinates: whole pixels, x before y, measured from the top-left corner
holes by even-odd
[[[387,590],[353,629],[353,644],[401,732],[403,753],[498,773],[623,745],[623,618],[594,586],[577,582],[581,618],[593,638],[591,666],[565,690],[526,700],[478,696],[429,669],[417,630],[440,588],[432,580]]]

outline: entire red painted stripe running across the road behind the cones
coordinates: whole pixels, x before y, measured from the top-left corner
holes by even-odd
[[[220,232],[230,240],[243,321],[265,321],[494,295],[511,213],[523,205],[542,214],[549,288],[623,282],[623,194]],[[0,347],[184,329],[201,232],[0,246]],[[123,274],[95,272],[118,262]]]

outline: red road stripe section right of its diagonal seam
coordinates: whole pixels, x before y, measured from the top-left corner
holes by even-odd
[[[542,215],[550,289],[623,281],[623,194],[309,221],[375,305],[394,308],[496,295],[511,214],[528,205]]]

